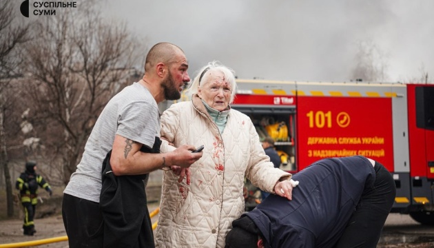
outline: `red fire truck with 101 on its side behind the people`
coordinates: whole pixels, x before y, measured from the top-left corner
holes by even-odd
[[[295,174],[322,158],[373,158],[395,179],[392,212],[434,225],[434,85],[237,83],[231,107],[251,117],[261,138],[276,132],[281,169]]]

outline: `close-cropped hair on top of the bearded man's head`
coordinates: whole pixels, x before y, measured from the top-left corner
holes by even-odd
[[[173,59],[179,51],[184,52],[177,45],[174,45],[172,43],[156,43],[149,50],[149,52],[147,52],[145,61],[145,72],[149,71],[157,63],[163,62],[165,64],[169,64],[174,62]]]

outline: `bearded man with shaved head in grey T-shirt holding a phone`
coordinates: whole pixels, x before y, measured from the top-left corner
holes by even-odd
[[[182,145],[160,153],[158,103],[180,98],[190,81],[183,50],[154,45],[143,78],[116,94],[101,112],[63,195],[63,223],[73,247],[154,247],[146,205],[149,172],[187,168],[202,152]]]

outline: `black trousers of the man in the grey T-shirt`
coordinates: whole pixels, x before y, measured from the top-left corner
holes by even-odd
[[[70,248],[103,247],[103,216],[98,203],[63,194],[62,216]]]

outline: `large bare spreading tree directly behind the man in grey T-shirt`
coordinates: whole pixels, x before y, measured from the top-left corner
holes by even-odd
[[[92,6],[65,9],[34,31],[25,63],[32,123],[51,167],[68,183],[101,110],[131,83],[138,42],[125,25],[104,23]]]

